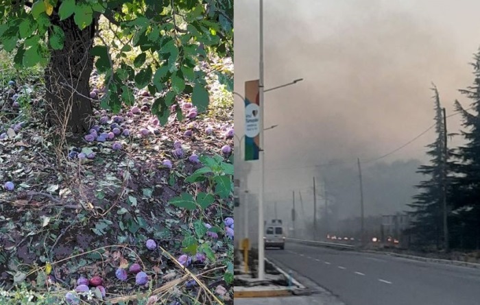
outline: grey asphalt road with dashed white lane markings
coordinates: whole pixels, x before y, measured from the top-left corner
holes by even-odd
[[[296,243],[265,254],[346,305],[480,304],[480,269]]]

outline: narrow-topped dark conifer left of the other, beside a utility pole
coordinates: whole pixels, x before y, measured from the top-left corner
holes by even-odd
[[[438,90],[433,85],[433,99],[435,100],[435,142],[427,145],[427,155],[431,156],[430,164],[418,167],[417,173],[429,176],[416,186],[420,189],[418,195],[413,196],[414,201],[407,204],[413,208],[409,211],[412,218],[409,234],[414,236],[418,244],[431,245],[435,243],[440,247],[442,237],[442,185],[444,166],[444,121],[442,106]]]

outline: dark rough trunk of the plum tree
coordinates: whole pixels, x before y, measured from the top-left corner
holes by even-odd
[[[89,80],[93,70],[93,38],[98,19],[80,30],[73,16],[60,21],[54,13],[51,22],[63,29],[64,48],[51,50],[51,59],[45,70],[49,125],[58,127],[58,132],[82,134],[91,126],[93,108]]]

